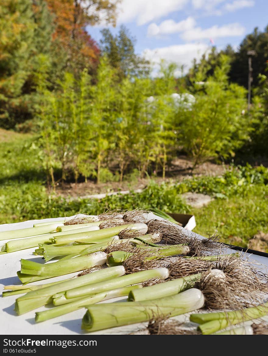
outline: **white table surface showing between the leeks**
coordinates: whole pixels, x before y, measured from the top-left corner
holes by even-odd
[[[148,216],[149,219],[161,219],[158,216],[152,214],[152,216]],[[62,218],[58,218],[61,220]],[[51,221],[56,219],[43,219],[43,220],[29,220],[24,221],[22,223],[14,223],[14,224],[3,224],[0,225],[0,231],[5,230],[15,230],[15,229],[24,229],[26,227],[32,227],[33,224],[39,223],[41,221]],[[186,234],[191,234],[191,232],[184,230]],[[0,246],[4,244],[6,241],[0,241]],[[0,292],[3,290],[3,286],[7,286],[10,284],[21,284],[19,278],[17,277],[16,272],[20,270],[20,259],[26,258],[31,259],[36,262],[44,263],[41,256],[34,256],[32,252],[36,247],[16,251],[12,253],[7,253],[4,255],[0,255]],[[226,248],[222,253],[232,253],[233,250]],[[261,270],[264,273],[268,271],[268,258],[257,255],[249,255],[248,253],[243,253],[244,258],[248,258],[252,263],[254,263],[255,267]],[[44,284],[50,283],[54,281],[59,281],[63,279],[70,278],[72,276],[76,276],[76,273],[67,274],[66,276],[50,278],[45,281],[35,282],[35,284]],[[58,318],[44,321],[42,323],[35,323],[35,312],[46,310],[48,306],[44,306],[38,308],[36,310],[32,310],[29,313],[23,315],[16,315],[14,311],[14,302],[17,297],[20,295],[12,295],[10,297],[1,298],[1,307],[0,307],[0,334],[1,335],[76,335],[76,334],[84,334],[81,330],[81,319],[86,311],[86,309],[82,308],[75,312],[62,315]],[[112,299],[115,300],[126,300],[125,297]],[[111,300],[107,300],[103,303],[111,302]],[[185,321],[186,316],[177,316],[176,319],[180,321]],[[146,325],[143,324],[143,325]],[[113,329],[107,329],[98,331],[93,334],[129,334],[138,330],[141,324],[134,324],[129,326],[123,326]]]

